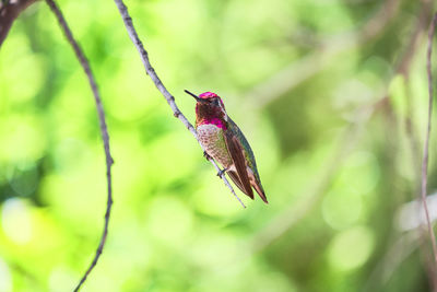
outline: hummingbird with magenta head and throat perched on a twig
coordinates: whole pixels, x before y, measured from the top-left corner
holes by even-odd
[[[217,175],[227,173],[235,185],[253,199],[253,190],[269,203],[258,174],[253,151],[238,126],[227,115],[222,98],[212,92],[199,96],[185,91],[196,98],[196,130],[205,149],[206,159],[213,157],[224,167]]]

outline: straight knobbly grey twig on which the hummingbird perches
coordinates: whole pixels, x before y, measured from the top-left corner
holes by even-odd
[[[192,125],[188,121],[188,119],[184,116],[184,114],[180,112],[178,106],[175,103],[175,97],[167,91],[167,89],[164,86],[163,82],[161,79],[157,77],[155,70],[153,69],[152,65],[150,63],[149,60],[149,54],[144,49],[144,46],[140,39],[140,37],[137,34],[137,31],[133,26],[132,19],[129,15],[128,8],[125,5],[122,0],[114,0],[116,2],[116,5],[118,10],[120,11],[122,21],[125,23],[126,30],[128,31],[129,37],[132,40],[133,45],[137,47],[138,51],[140,52],[141,60],[144,65],[144,69],[146,74],[152,79],[153,83],[155,83],[155,86],[157,90],[161,92],[161,94],[164,96],[164,98],[167,101],[168,105],[170,106],[173,114],[175,117],[177,117],[184,125],[185,127],[194,136],[196,140],[198,140],[200,147],[204,151],[203,145],[200,143],[198,133],[196,132],[196,129],[192,127]],[[215,163],[215,161],[211,157],[209,157],[209,161],[214,165],[215,170],[217,173],[221,173],[221,170],[218,165]],[[234,188],[231,186],[229,182],[226,179],[225,175],[222,173],[220,176],[225,185],[229,188],[231,192],[234,195],[234,197],[239,201],[239,203],[246,208],[246,206],[243,203],[243,201],[238,198],[237,194],[235,194]]]

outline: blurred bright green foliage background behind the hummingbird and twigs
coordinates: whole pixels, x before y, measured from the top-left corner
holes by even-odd
[[[430,290],[429,245],[405,209],[430,2],[127,1],[189,120],[184,90],[215,92],[250,141],[270,205],[238,192],[243,209],[144,74],[114,2],[59,1],[115,160],[109,236],[82,291]],[[71,291],[101,237],[105,157],[86,78],[44,2],[0,49],[0,291]]]

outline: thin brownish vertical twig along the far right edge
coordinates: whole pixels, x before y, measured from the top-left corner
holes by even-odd
[[[433,246],[433,255],[435,264],[437,265],[437,245],[436,245],[436,237],[434,235],[433,225],[429,220],[429,211],[428,206],[426,202],[426,189],[428,183],[428,152],[429,152],[429,136],[430,136],[430,124],[432,124],[432,114],[433,114],[433,70],[432,70],[432,55],[433,55],[433,37],[434,31],[437,24],[437,13],[434,14],[433,22],[429,27],[428,33],[428,50],[426,55],[426,70],[428,74],[428,124],[426,128],[426,138],[425,138],[425,145],[424,145],[424,154],[423,154],[423,163],[422,163],[422,202],[425,210],[425,218],[426,223],[428,226],[428,233]]]

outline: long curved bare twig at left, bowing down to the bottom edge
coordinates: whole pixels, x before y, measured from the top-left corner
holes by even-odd
[[[76,288],[74,289],[74,291],[79,291],[79,289],[82,287],[82,284],[85,282],[87,276],[90,275],[90,272],[94,269],[94,267],[97,265],[97,260],[102,255],[103,248],[105,246],[106,243],[106,237],[108,235],[108,224],[109,224],[109,217],[110,217],[110,210],[111,210],[111,206],[113,206],[113,185],[111,185],[111,174],[110,174],[110,166],[114,163],[114,160],[110,155],[110,151],[109,151],[109,135],[108,135],[108,130],[107,130],[107,126],[106,126],[106,120],[105,120],[105,113],[103,110],[103,106],[102,106],[102,98],[101,98],[101,94],[98,93],[97,90],[97,84],[95,82],[94,75],[91,71],[90,68],[90,63],[86,60],[86,57],[84,55],[84,52],[82,51],[81,47],[79,46],[78,42],[75,42],[73,34],[71,33],[66,19],[62,15],[62,12],[60,11],[60,9],[58,8],[58,5],[55,3],[54,0],[46,0],[47,4],[50,7],[51,11],[55,13],[59,25],[61,26],[66,37],[68,38],[70,45],[73,47],[74,49],[74,54],[78,57],[83,70],[85,71],[85,74],[88,79],[91,89],[93,91],[93,95],[94,95],[94,100],[96,103],[96,107],[97,107],[97,114],[98,114],[98,121],[99,121],[99,126],[101,126],[101,133],[102,133],[102,139],[103,139],[103,143],[104,143],[104,148],[105,148],[105,157],[106,157],[106,178],[107,178],[107,191],[108,191],[108,198],[107,198],[107,205],[106,205],[106,212],[105,212],[105,224],[104,224],[104,230],[103,230],[103,234],[101,237],[101,242],[98,244],[96,254],[94,256],[93,261],[91,262],[88,269],[86,270],[86,272],[83,275],[81,281],[79,282],[79,284],[76,285]]]

